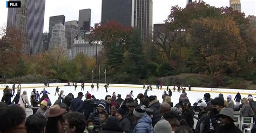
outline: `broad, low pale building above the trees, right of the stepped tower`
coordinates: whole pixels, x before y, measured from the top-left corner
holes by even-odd
[[[102,44],[96,45],[96,42],[92,42],[92,44],[90,44],[88,41],[85,41],[81,38],[81,36],[79,36],[78,39],[74,40],[74,44],[71,48],[72,58],[75,58],[79,53],[92,57],[96,55],[96,52],[98,54],[102,49]]]

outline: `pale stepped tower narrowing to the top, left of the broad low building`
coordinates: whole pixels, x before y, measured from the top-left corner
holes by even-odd
[[[66,38],[65,38],[65,28],[63,24],[57,23],[55,26],[52,28],[52,37],[50,38],[49,42],[49,50],[56,50],[60,49],[63,50],[64,55],[66,57],[69,56],[68,53],[68,43],[66,43]]]

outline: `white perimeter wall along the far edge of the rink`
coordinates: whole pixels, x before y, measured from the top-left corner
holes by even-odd
[[[72,83],[70,83],[72,85]],[[8,85],[9,88],[12,88],[12,84],[0,84],[0,90],[3,90],[5,86]],[[66,83],[50,83],[50,87],[62,87],[66,86]],[[94,83],[95,87],[96,83]],[[105,84],[99,84],[100,87],[103,87]],[[16,84],[17,88],[18,84]],[[22,90],[26,88],[44,88],[44,84],[21,84]],[[77,87],[80,87],[81,83],[77,83]],[[85,83],[85,87],[90,87],[91,83]],[[132,84],[109,84],[109,87],[120,87],[120,88],[143,88],[143,85],[132,85]],[[146,85],[147,87],[147,85]],[[184,86],[186,87],[186,86]],[[152,86],[153,89],[156,89],[156,86]],[[163,86],[163,90],[166,90],[167,86]],[[173,86],[169,86],[169,88],[173,88]],[[177,89],[177,87],[176,87]],[[186,87],[186,90],[188,90],[188,87]],[[230,94],[237,94],[237,92],[240,92],[240,94],[254,94],[255,90],[239,90],[239,89],[232,89],[232,88],[205,88],[205,87],[191,87],[192,91],[195,92],[211,92],[211,93],[230,93]]]

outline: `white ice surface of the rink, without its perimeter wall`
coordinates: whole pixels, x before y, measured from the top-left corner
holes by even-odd
[[[96,84],[94,84],[95,87],[94,87],[94,91],[91,91],[91,87],[88,86],[88,85],[85,85],[85,89],[84,91],[82,91],[84,94],[89,91],[89,93],[91,95],[95,95],[96,99],[105,99],[105,96],[106,95],[111,95],[113,94],[113,92],[116,92],[116,95],[117,94],[121,94],[122,95],[122,99],[125,99],[126,98],[126,95],[129,94],[131,91],[133,91],[133,99],[135,99],[137,97],[137,95],[139,93],[142,93],[144,94],[145,92],[145,89],[143,90],[143,85],[142,87],[114,87],[114,86],[111,86],[111,84],[109,85],[109,88],[108,88],[108,93],[105,92],[105,87],[103,86],[99,86],[99,91],[97,92],[97,86]],[[39,88],[36,88],[36,91],[38,91],[39,93],[41,91],[43,91],[43,88],[44,87],[39,87]],[[172,90],[172,86],[170,86],[169,88],[171,88],[171,91],[172,91],[172,102],[174,105],[176,105],[178,103],[178,100],[179,100],[179,97],[180,97],[180,94],[181,93],[178,93],[177,90],[176,92],[173,92]],[[177,88],[177,87],[176,87]],[[187,88],[187,87],[186,87]],[[187,88],[188,89],[188,88]],[[22,91],[27,91],[27,95],[28,95],[28,99],[30,100],[30,94],[32,92],[33,88],[23,88]],[[49,94],[49,98],[52,102],[52,104],[58,99],[58,95],[56,94],[55,96],[55,90],[56,90],[56,87],[45,87],[45,90],[48,91],[50,94]],[[60,86],[60,89],[59,89],[59,92],[63,90],[64,91],[64,94],[67,95],[69,94],[70,92],[74,95],[74,97],[76,98],[77,97],[77,94],[78,92],[81,91],[81,86],[78,85],[77,87],[77,91],[75,91],[75,87],[74,86]],[[153,89],[153,91],[148,91],[147,92],[147,95],[150,96],[150,95],[156,95],[157,96],[157,99],[162,102],[163,99],[161,98],[163,93],[164,93],[164,90],[166,90],[166,87],[164,88],[163,87],[163,90],[157,90],[157,89]],[[16,88],[16,91],[17,91],[17,88]],[[237,91],[239,92],[239,90],[231,90],[231,91]],[[237,92],[233,92],[233,93],[223,93],[224,95],[224,98],[226,99],[227,95],[231,95],[232,96],[232,99],[234,99],[235,97],[235,94]],[[17,92],[15,92],[16,94]],[[187,93],[187,97],[188,99],[190,100],[191,104],[193,105],[194,102],[196,102],[197,98],[201,98],[203,99],[204,97],[204,94],[206,92],[198,92],[198,91],[188,91],[186,90],[186,93]],[[215,97],[218,97],[219,93],[215,93],[215,92],[209,92],[211,94],[211,98],[215,98]],[[234,94],[235,93],[235,94]],[[168,92],[167,92],[168,94]],[[245,94],[241,94],[242,98],[244,97],[248,97],[248,95],[245,95]],[[0,93],[0,98],[2,99],[3,97],[3,92]],[[15,97],[15,96],[14,96]],[[12,97],[12,100],[14,99],[14,97]],[[42,97],[42,94],[41,94],[41,97]],[[254,97],[254,95],[253,95]],[[82,100],[84,100],[85,97],[83,97]]]

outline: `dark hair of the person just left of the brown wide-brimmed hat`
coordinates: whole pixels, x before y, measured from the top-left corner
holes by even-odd
[[[26,132],[36,133],[43,132],[47,120],[42,114],[33,114],[26,119]]]

